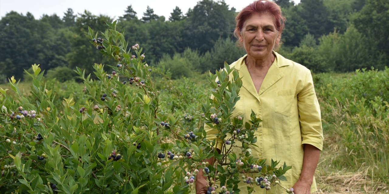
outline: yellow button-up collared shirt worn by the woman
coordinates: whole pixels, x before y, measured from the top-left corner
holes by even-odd
[[[233,116],[243,115],[245,120],[250,119],[253,110],[257,117],[262,119],[262,124],[254,133],[258,147],[251,148],[252,155],[255,158],[266,158],[269,164],[273,159],[280,161],[279,165],[283,165],[284,162],[287,166],[291,165],[292,169],[285,174],[287,182],[281,182],[283,187],[289,188],[300,177],[304,156],[303,144],[311,144],[322,150],[321,114],[309,69],[285,59],[277,52],[274,54],[276,59],[270,66],[258,93],[244,61],[247,55],[230,65],[238,70],[243,83],[239,94],[240,100],[235,105]],[[216,139],[217,130],[207,125],[205,130],[208,140]],[[220,149],[221,145],[220,143],[217,147]],[[239,184],[241,194],[247,193],[247,186],[245,183]],[[254,188],[257,194],[265,193],[265,189],[260,189],[257,185],[254,185]],[[314,178],[311,192],[315,191],[317,188]],[[277,187],[266,191],[266,194],[270,193],[286,192]]]

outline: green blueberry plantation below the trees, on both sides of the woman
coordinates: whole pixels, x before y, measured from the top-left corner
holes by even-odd
[[[190,193],[199,170],[208,176],[210,193],[237,193],[238,182],[249,191],[291,193],[288,164],[251,155],[261,120],[231,114],[241,86],[233,69],[170,80],[147,65],[139,45],[128,51],[116,23],[109,26],[105,33],[88,33],[90,49],[100,46],[101,54],[117,61],[95,64],[97,80],[79,68],[82,84],[45,80],[33,65],[32,81],[23,83],[31,93],[14,78],[9,90],[0,89],[3,193]],[[324,153],[333,144],[339,149],[335,159],[329,159],[334,153],[322,155],[318,170],[367,168],[376,185],[372,193],[388,184],[389,159],[382,152],[389,150],[388,74],[385,68],[314,76]],[[219,130],[221,154],[212,150],[217,142],[205,139],[204,123]],[[232,153],[234,146],[242,153]],[[210,157],[215,165],[205,162]]]

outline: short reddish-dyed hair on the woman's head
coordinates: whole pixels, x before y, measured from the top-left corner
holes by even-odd
[[[255,13],[268,13],[275,18],[275,28],[279,31],[280,35],[285,26],[285,17],[282,15],[282,11],[277,3],[270,0],[258,0],[252,2],[250,5],[242,9],[235,18],[235,30],[234,35],[238,38],[238,33],[242,31],[244,22],[249,19]]]

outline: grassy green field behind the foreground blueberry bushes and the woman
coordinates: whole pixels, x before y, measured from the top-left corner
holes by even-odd
[[[324,130],[324,149],[315,174],[319,193],[388,192],[388,74],[389,69],[314,74]],[[196,123],[201,121],[201,104],[210,95],[204,90],[207,87],[204,77],[195,80],[156,78],[164,80],[163,86],[158,86],[163,94],[161,112],[183,118],[181,127],[201,126],[201,123]],[[82,83],[55,80],[45,83],[47,88],[54,89],[56,97],[53,103],[57,106],[70,95],[77,99],[75,101],[86,100]],[[24,97],[32,96],[31,83],[19,83],[18,86],[24,91]],[[6,95],[16,96],[9,84],[0,87],[9,89]],[[193,121],[185,122],[184,118],[189,116]]]

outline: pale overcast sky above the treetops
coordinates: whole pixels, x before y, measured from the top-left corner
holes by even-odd
[[[170,13],[176,6],[181,9],[182,13],[186,14],[187,10],[195,7],[198,1],[200,0],[0,0],[0,17],[4,17],[11,11],[16,11],[24,16],[30,12],[35,19],[40,19],[43,14],[57,14],[62,18],[67,9],[72,8],[75,14],[88,10],[96,16],[102,14],[117,19],[124,15],[128,5],[132,5],[140,19],[149,5],[154,10],[154,14],[165,16],[168,20]],[[237,11],[242,10],[253,1],[225,0],[229,8],[234,7]],[[294,2],[298,3],[300,0],[294,0]]]

